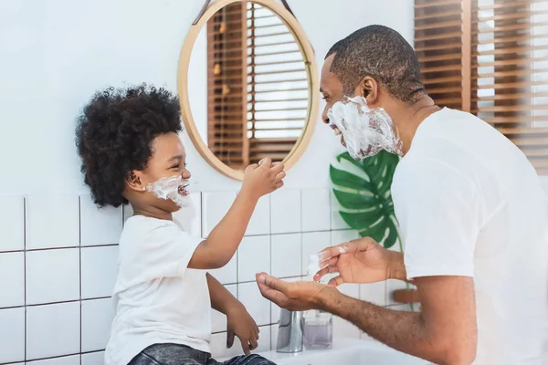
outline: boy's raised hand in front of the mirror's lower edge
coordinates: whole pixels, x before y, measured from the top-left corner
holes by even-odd
[[[249,165],[244,172],[242,192],[258,199],[278,190],[283,186],[283,178],[286,176],[283,169],[283,163],[272,163],[269,157],[262,159],[258,164]]]

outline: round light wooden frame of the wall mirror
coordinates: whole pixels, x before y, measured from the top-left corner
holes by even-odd
[[[179,94],[179,102],[181,104],[181,115],[183,117],[184,128],[188,131],[190,139],[194,143],[195,148],[200,152],[200,155],[206,162],[215,168],[216,171],[239,181],[244,179],[244,172],[234,170],[231,167],[228,167],[225,163],[221,162],[216,155],[209,150],[209,147],[207,147],[207,144],[205,144],[205,141],[202,140],[200,134],[198,133],[195,120],[192,116],[192,110],[190,108],[190,100],[188,98],[188,71],[190,66],[190,57],[195,46],[196,38],[200,34],[202,28],[206,25],[207,21],[223,7],[233,3],[239,3],[241,1],[242,0],[217,0],[215,3],[207,7],[204,15],[195,23],[195,25],[190,27],[188,34],[184,38],[184,45],[181,49],[179,66],[177,69],[177,92]],[[269,8],[269,10],[279,16],[285,25],[288,26],[291,34],[295,38],[295,42],[299,45],[300,52],[306,65],[309,84],[309,105],[307,118],[299,139],[295,142],[295,145],[291,149],[290,153],[283,160],[285,170],[288,171],[295,164],[295,162],[300,159],[300,156],[311,141],[312,133],[318,118],[320,90],[318,84],[319,81],[316,59],[311,43],[306,37],[304,30],[295,16],[293,16],[284,6],[279,5],[274,0],[252,0],[252,2]]]

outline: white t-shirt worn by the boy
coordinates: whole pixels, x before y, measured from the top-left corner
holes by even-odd
[[[155,343],[209,352],[211,302],[205,271],[186,267],[200,242],[171,221],[128,219],[120,239],[116,317],[106,365],[126,365]]]

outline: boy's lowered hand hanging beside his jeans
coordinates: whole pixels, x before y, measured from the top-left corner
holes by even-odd
[[[252,349],[258,347],[258,332],[257,323],[244,306],[232,308],[227,313],[227,349],[234,345],[234,336],[236,335],[242,343],[244,353],[249,355]]]

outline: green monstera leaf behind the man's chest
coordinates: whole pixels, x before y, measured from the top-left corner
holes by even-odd
[[[344,152],[337,156],[340,168],[330,166],[333,193],[343,208],[339,214],[344,222],[362,237],[372,237],[386,248],[399,242],[390,193],[398,161],[398,156],[386,151],[362,162]]]

